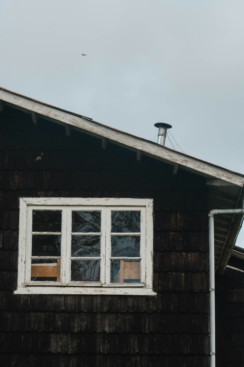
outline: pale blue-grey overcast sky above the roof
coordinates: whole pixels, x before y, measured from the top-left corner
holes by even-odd
[[[169,123],[185,153],[244,173],[243,14],[243,0],[1,0],[0,86],[150,140]]]

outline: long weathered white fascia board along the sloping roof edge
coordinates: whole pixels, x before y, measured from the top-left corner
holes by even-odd
[[[73,127],[98,135],[99,138],[108,138],[133,150],[142,150],[143,154],[152,156],[154,159],[160,159],[169,164],[180,164],[180,166],[182,168],[184,167],[185,170],[194,171],[206,177],[223,179],[224,181],[234,183],[237,186],[244,185],[244,177],[235,172],[225,170],[224,168],[187,156],[183,153],[145,139],[129,135],[123,131],[102,125],[96,121],[71,115],[71,113],[61,111],[2,89],[0,89],[0,99],[10,105],[17,106],[20,109],[25,110],[27,113],[35,112],[42,116],[46,116],[49,119],[61,121],[64,124],[69,124]]]

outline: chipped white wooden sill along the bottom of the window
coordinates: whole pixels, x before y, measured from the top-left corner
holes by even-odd
[[[19,287],[14,294],[86,294],[86,295],[157,295],[151,288],[142,287]]]

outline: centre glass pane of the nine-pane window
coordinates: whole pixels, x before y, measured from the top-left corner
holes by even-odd
[[[71,256],[94,257],[101,254],[101,236],[72,236]]]

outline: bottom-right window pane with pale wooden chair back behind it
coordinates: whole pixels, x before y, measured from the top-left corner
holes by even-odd
[[[140,260],[111,260],[111,283],[140,283]]]

